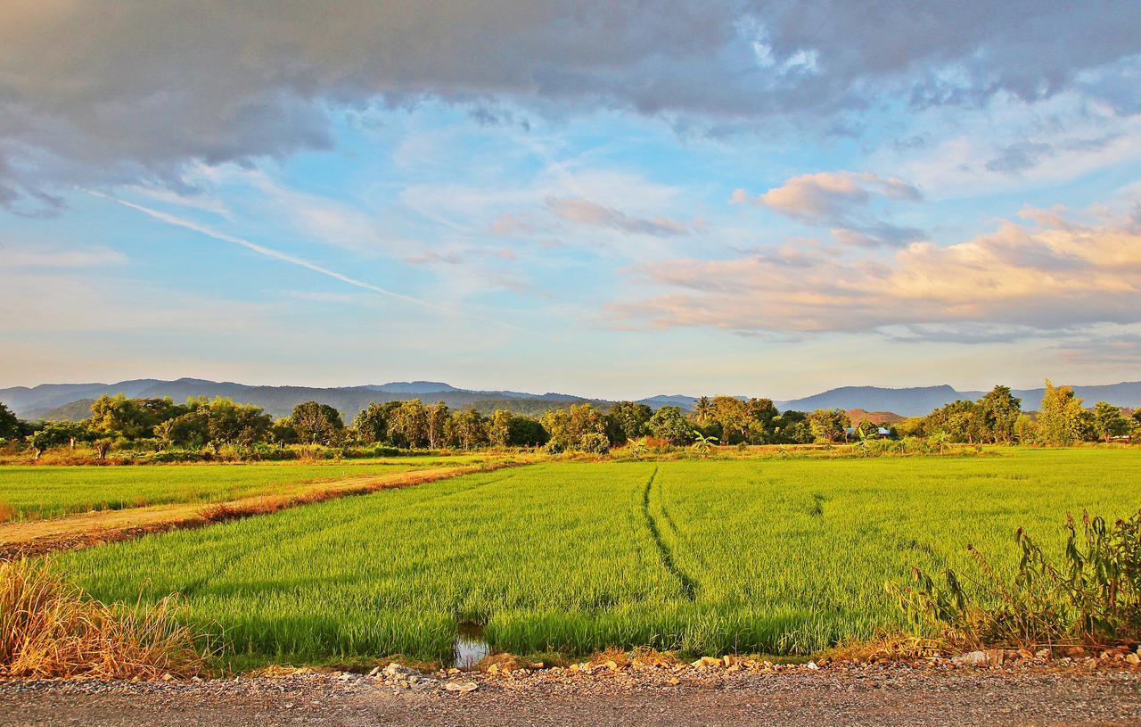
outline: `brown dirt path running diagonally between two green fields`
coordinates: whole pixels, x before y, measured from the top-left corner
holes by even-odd
[[[129,540],[168,530],[201,527],[236,517],[275,512],[300,504],[367,494],[391,487],[420,485],[437,479],[525,463],[504,461],[476,466],[432,467],[390,475],[366,475],[333,482],[318,482],[308,486],[291,485],[286,494],[252,495],[226,502],[156,504],[145,508],[82,512],[48,520],[7,523],[0,525],[0,559]]]

